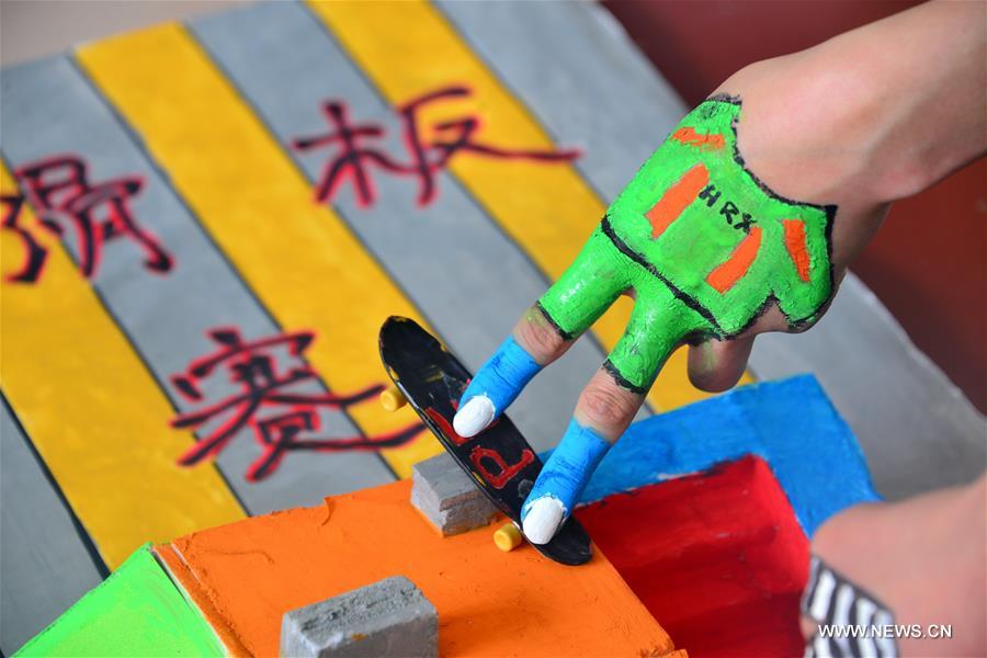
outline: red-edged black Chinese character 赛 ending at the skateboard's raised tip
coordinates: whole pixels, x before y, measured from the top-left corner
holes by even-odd
[[[383,386],[367,386],[349,395],[310,394],[293,390],[297,384],[317,381],[305,362],[305,351],[314,334],[307,331],[283,333],[256,341],[243,341],[236,328],[214,329],[209,338],[218,348],[196,359],[184,373],[171,377],[175,388],[191,402],[203,401],[203,384],[218,374],[238,392],[195,411],[180,413],[171,421],[174,428],[202,429],[207,423],[219,426],[189,449],[180,458],[182,466],[192,466],[205,458],[215,458],[237,432],[249,427],[262,454],[247,472],[247,479],[257,481],[277,469],[288,451],[308,450],[338,452],[344,450],[379,450],[398,447],[418,435],[424,426],[413,423],[387,434],[321,439],[305,435],[320,428],[319,408],[345,409],[373,398]],[[275,352],[285,351],[292,363],[281,371]],[[262,413],[262,411],[270,411]]]

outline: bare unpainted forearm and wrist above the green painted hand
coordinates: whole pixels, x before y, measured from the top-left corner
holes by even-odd
[[[980,2],[933,2],[752,65],[739,147],[778,192],[852,214],[915,194],[987,149]]]

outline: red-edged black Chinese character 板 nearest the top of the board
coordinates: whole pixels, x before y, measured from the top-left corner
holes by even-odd
[[[333,132],[315,137],[302,137],[292,143],[298,150],[310,150],[334,145],[338,150],[333,159],[322,168],[316,186],[316,198],[320,203],[332,201],[340,183],[345,178],[353,180],[356,204],[371,205],[376,198],[371,168],[376,167],[398,175],[418,179],[418,205],[427,206],[435,200],[435,174],[449,166],[458,152],[468,152],[494,159],[522,159],[533,162],[568,162],[579,157],[576,149],[511,149],[485,144],[477,137],[480,120],[476,115],[436,123],[431,126],[431,140],[422,137],[419,112],[436,101],[467,98],[472,91],[466,87],[451,86],[424,93],[397,107],[401,121],[401,137],[407,149],[407,163],[390,158],[379,149],[362,145],[363,139],[381,138],[385,128],[379,124],[349,123],[349,112],[340,101],[322,104],[322,114]]]

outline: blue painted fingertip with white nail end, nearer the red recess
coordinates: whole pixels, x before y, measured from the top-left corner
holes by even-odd
[[[572,419],[521,508],[530,542],[546,544],[555,536],[609,449],[610,442],[595,430]]]

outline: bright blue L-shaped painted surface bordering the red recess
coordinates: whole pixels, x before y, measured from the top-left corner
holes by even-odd
[[[762,457],[812,537],[850,506],[881,500],[863,453],[812,375],[738,388],[634,423],[600,463],[580,503]]]

